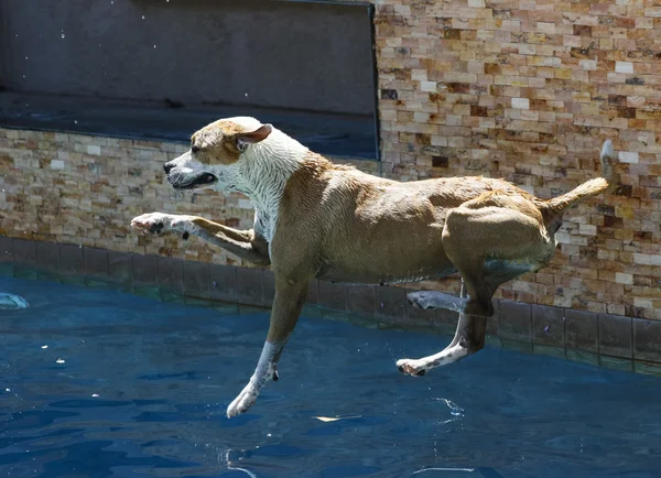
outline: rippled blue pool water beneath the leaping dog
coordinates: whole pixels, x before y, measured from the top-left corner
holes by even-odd
[[[661,476],[661,379],[496,348],[403,377],[448,338],[304,317],[281,380],[228,420],[266,314],[0,291],[31,304],[0,311],[1,477]]]

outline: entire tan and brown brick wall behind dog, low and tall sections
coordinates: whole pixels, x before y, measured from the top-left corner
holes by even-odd
[[[613,139],[617,194],[573,209],[553,263],[500,294],[661,319],[658,1],[382,0],[375,23],[382,174],[483,174],[551,197],[595,176],[598,149]],[[161,164],[178,148],[1,130],[0,235],[238,262],[193,241],[127,230],[149,210],[209,210],[250,225],[246,199],[163,185]]]

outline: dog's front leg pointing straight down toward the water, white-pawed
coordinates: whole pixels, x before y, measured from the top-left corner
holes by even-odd
[[[296,325],[306,294],[307,281],[299,283],[275,275],[275,297],[267,341],[250,381],[227,408],[228,417],[231,419],[252,406],[267,380],[278,380],[278,361]]]

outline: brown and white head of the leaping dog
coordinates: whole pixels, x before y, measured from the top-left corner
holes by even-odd
[[[272,131],[271,124],[248,117],[213,122],[193,134],[187,152],[163,165],[167,181],[175,189],[234,189],[241,156]]]

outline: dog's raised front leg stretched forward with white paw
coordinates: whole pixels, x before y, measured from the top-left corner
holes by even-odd
[[[232,229],[197,216],[163,213],[138,216],[133,218],[131,226],[152,233],[176,231],[185,239],[188,235],[197,236],[258,265],[267,267],[271,263],[269,243],[252,230]]]

